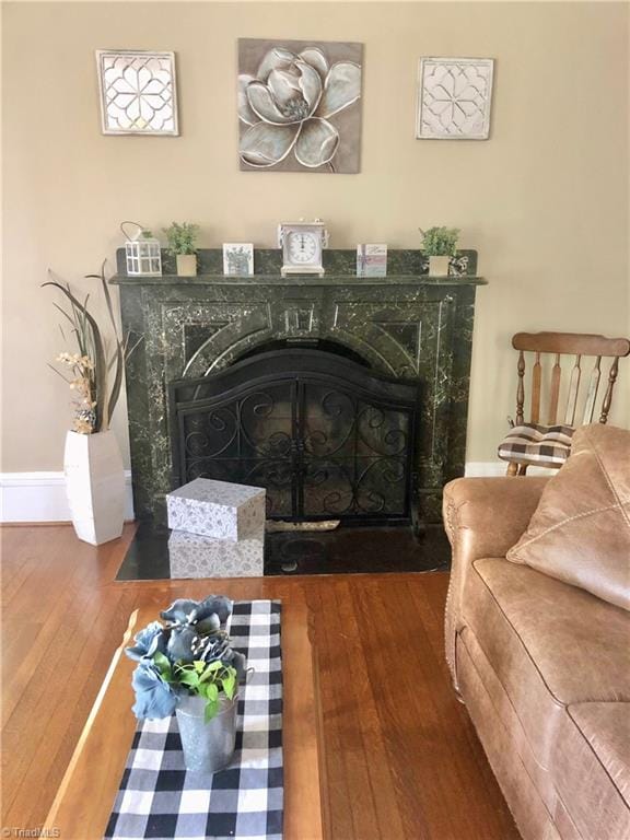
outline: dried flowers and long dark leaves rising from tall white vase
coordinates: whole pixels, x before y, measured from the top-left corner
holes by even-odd
[[[100,275],[86,275],[86,278],[101,281],[112,322],[113,339],[110,342],[103,338],[96,320],[88,310],[89,294],[81,303],[72,293],[69,283],[60,282],[51,271],[48,271],[48,275],[52,279],[43,283],[43,285],[52,285],[59,289],[70,302],[69,311],[57,303],[54,305],[70,322],[70,331],[74,336],[79,352],[63,351],[57,357],[56,361],[66,365],[69,376],[51,364],[48,366],[61,376],[70,385],[70,389],[74,392],[72,431],[80,434],[95,434],[109,429],[112,416],[120,396],[125,361],[138,346],[136,342],[129,347],[129,336],[121,338],[118,334],[112,296],[105,278],[105,265],[104,261]],[[59,329],[63,340],[68,340],[63,328],[59,326]],[[112,371],[114,371],[113,380]]]

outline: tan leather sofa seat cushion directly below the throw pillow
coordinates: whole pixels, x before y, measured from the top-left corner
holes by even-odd
[[[489,558],[472,568],[462,622],[504,686],[536,760],[548,769],[568,704],[630,701],[630,616],[526,565]]]

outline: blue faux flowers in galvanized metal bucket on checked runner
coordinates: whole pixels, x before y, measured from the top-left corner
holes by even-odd
[[[139,720],[177,718],[187,770],[214,773],[234,752],[238,684],[245,656],[224,630],[233,602],[178,598],[126,649],[138,663],[131,685]]]

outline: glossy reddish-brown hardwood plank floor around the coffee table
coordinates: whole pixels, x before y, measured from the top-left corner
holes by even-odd
[[[331,840],[517,840],[451,687],[446,574],[117,583],[132,533],[2,529],[2,828],[42,826],[129,614],[214,591],[314,615]]]

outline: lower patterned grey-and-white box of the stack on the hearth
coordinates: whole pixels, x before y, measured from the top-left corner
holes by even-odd
[[[173,530],[168,537],[171,578],[261,578],[265,535],[233,542]]]

